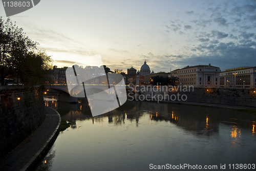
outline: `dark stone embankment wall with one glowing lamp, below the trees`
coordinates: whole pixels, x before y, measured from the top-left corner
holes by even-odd
[[[45,117],[40,88],[0,87],[0,157],[26,139]]]

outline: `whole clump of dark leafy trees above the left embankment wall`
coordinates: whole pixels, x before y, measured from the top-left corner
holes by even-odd
[[[7,75],[22,80],[31,87],[44,82],[44,74],[52,68],[51,56],[37,50],[36,41],[32,41],[22,28],[12,24],[10,18],[0,17],[0,79],[2,84]]]

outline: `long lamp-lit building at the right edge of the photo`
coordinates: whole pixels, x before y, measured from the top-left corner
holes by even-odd
[[[221,87],[255,88],[256,67],[227,69],[220,73]]]

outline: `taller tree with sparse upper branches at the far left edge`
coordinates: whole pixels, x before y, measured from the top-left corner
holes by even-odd
[[[10,73],[18,77],[18,68],[22,66],[25,56],[36,49],[37,42],[26,36],[22,28],[12,24],[10,18],[4,22],[0,17],[0,79]],[[24,65],[24,63],[23,63]]]

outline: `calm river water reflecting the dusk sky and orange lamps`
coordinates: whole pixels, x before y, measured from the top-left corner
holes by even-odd
[[[54,96],[45,100],[46,106],[73,124],[60,132],[37,170],[151,170],[169,164],[241,170],[256,164],[254,115],[127,101],[112,112],[92,117],[86,100],[78,104],[59,102]]]

